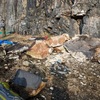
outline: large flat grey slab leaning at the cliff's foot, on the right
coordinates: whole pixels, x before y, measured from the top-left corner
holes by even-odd
[[[82,52],[83,54],[82,53],[81,54],[84,55],[84,57],[86,56],[88,59],[90,59],[91,57],[93,57],[93,54],[94,54],[93,48],[95,48],[99,44],[100,44],[99,38],[91,38],[88,36],[79,36],[79,37],[73,38],[72,40],[64,43],[64,47],[70,53]]]

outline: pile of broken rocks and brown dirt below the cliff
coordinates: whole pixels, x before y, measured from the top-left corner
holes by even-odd
[[[21,97],[25,100],[99,100],[99,38],[87,35],[69,38],[63,34],[23,39],[15,35],[5,37],[13,44],[0,46],[0,80],[9,82],[21,69],[46,82],[43,88],[34,91],[36,96],[25,98],[23,92],[15,90]]]

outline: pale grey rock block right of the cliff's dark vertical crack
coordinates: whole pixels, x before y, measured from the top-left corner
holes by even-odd
[[[100,8],[100,5],[98,6]],[[100,38],[100,11],[98,8],[91,9],[89,15],[83,18],[82,34]]]

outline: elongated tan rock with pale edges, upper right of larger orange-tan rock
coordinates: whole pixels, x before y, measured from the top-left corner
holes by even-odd
[[[47,41],[46,41],[46,44],[49,46],[49,47],[57,47],[57,46],[61,46],[63,45],[63,43],[67,40],[69,40],[69,36],[68,34],[62,34],[62,35],[59,35],[59,36],[53,36],[53,37],[50,37]]]

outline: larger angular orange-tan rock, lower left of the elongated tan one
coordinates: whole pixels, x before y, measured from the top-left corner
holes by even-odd
[[[52,48],[46,45],[45,41],[36,41],[27,54],[33,58],[44,59],[52,52]]]

